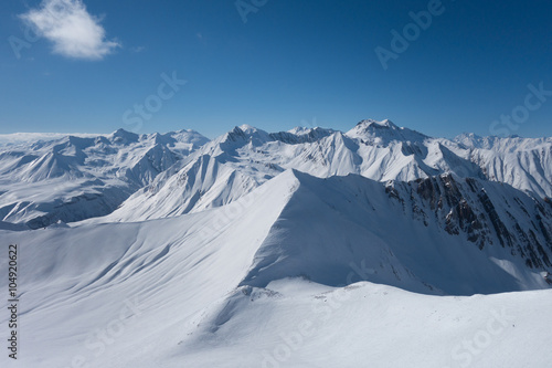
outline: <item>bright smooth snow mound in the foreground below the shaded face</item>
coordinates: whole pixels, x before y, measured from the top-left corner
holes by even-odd
[[[552,361],[552,291],[452,297],[301,280],[268,287],[244,287],[206,312],[158,367],[513,368]]]

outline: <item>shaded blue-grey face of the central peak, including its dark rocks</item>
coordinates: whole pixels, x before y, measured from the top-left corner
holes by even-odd
[[[294,176],[297,189],[242,285],[282,276],[347,285],[351,266],[363,280],[422,293],[552,283],[543,276],[552,271],[552,207],[509,186],[450,175],[388,185]]]

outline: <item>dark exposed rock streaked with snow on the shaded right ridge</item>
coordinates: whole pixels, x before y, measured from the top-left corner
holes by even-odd
[[[492,190],[487,191],[487,186]],[[549,198],[531,198],[507,185],[452,175],[390,182],[385,192],[426,227],[434,218],[447,233],[466,236],[480,250],[499,245],[521,256],[531,269],[552,266]]]

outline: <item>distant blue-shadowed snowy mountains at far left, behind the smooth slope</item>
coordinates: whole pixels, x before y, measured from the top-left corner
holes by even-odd
[[[41,228],[110,213],[137,189],[194,151],[191,130],[67,136],[0,150],[0,219]]]

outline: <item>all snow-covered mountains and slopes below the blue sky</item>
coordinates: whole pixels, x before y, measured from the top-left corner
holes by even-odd
[[[21,364],[544,367],[551,156],[390,120],[4,144]]]

